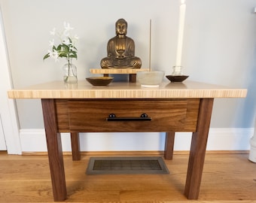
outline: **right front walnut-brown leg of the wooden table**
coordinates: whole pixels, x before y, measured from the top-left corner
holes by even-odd
[[[192,135],[190,157],[187,167],[187,180],[184,195],[188,199],[197,199],[203,174],[206,144],[212,116],[213,98],[201,98],[197,120],[197,132]]]

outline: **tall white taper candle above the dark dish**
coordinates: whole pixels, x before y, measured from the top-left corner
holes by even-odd
[[[181,66],[181,53],[182,53],[182,44],[183,44],[185,13],[186,13],[185,0],[181,0],[181,5],[179,8],[176,66]]]

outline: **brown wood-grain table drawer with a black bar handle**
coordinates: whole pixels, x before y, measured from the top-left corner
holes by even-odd
[[[195,131],[200,100],[69,100],[71,132]],[[110,114],[118,120],[108,121]],[[139,119],[147,114],[148,119]]]

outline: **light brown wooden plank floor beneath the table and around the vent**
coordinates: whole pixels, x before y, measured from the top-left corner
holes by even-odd
[[[64,156],[66,202],[256,202],[256,164],[247,153],[207,153],[198,201],[183,195],[187,154],[166,161],[167,175],[87,175],[89,158]],[[0,202],[53,202],[47,156],[0,153]]]

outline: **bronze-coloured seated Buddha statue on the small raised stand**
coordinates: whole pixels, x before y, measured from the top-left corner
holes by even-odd
[[[142,61],[135,55],[135,44],[126,36],[127,22],[124,19],[115,23],[116,36],[108,41],[108,56],[100,62],[102,68],[141,68]]]

